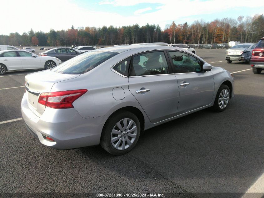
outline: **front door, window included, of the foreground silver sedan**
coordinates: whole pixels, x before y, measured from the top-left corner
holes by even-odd
[[[168,51],[179,87],[177,115],[212,103],[214,79],[211,71],[202,70],[202,61],[189,53]]]

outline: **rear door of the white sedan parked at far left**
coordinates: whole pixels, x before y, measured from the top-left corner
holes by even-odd
[[[22,69],[22,63],[17,51],[4,52],[0,58],[1,62],[7,66],[7,70]]]

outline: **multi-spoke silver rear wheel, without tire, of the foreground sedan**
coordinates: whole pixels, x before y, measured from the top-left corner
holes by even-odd
[[[130,147],[137,137],[137,125],[129,118],[117,122],[111,132],[112,146],[117,150]]]

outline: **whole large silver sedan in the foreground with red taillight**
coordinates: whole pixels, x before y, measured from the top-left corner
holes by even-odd
[[[233,82],[230,72],[181,48],[102,48],[26,75],[22,117],[44,145],[100,144],[122,155],[142,130],[208,107],[225,110]]]

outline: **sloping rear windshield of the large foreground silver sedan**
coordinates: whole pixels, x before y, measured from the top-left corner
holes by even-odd
[[[76,56],[52,69],[53,72],[61,74],[84,74],[109,58],[119,54],[109,51],[90,51]]]

